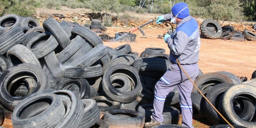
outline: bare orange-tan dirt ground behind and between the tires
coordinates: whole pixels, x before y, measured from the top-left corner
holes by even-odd
[[[105,32],[110,36],[115,36],[117,32],[129,32],[128,28],[108,28]],[[166,33],[165,29],[143,29],[147,34],[146,38],[141,38],[143,35],[136,31],[137,42],[104,42],[104,45],[115,48],[123,44],[130,44],[132,51],[139,54],[147,47],[159,47],[166,49],[166,54],[170,50],[163,39],[158,39],[158,35]],[[256,70],[256,41],[232,41],[232,40],[210,40],[201,36],[201,47],[198,62],[199,68],[203,73],[227,71],[232,72],[237,76],[246,76],[251,79],[252,73]],[[181,117],[180,122],[181,124]],[[195,128],[209,128],[211,124],[204,120],[193,120]],[[5,119],[2,125],[6,128],[12,128],[11,120]]]

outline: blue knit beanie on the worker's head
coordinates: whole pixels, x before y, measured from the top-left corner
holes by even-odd
[[[176,16],[183,8],[187,7],[188,4],[181,2],[181,3],[177,3],[173,6],[172,8],[172,13],[174,16]],[[184,19],[185,17],[189,16],[189,8],[185,8],[184,10],[182,10],[179,15],[177,15],[177,18],[179,19]]]

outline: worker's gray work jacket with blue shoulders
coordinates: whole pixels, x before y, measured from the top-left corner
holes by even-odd
[[[165,20],[171,19],[171,14],[163,15]],[[198,23],[191,16],[187,16],[177,24],[177,29],[166,39],[170,48],[170,62],[176,63],[174,56],[182,65],[198,62],[200,49],[200,35]]]

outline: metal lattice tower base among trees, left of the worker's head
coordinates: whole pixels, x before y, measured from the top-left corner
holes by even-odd
[[[179,3],[181,0],[141,0],[140,1],[140,7],[145,8],[145,6],[149,5],[150,12],[154,10],[154,7],[157,7],[155,3],[170,5],[170,7],[173,7],[175,3]],[[158,4],[158,5],[160,5]]]

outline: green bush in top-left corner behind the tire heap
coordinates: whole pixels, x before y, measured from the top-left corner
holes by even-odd
[[[34,6],[23,0],[4,0],[0,6],[0,16],[5,14],[16,14],[23,17],[32,16],[35,13]]]

